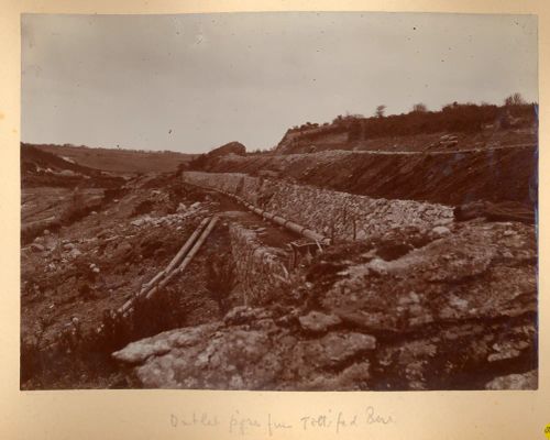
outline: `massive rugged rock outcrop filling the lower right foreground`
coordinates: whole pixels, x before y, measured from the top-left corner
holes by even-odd
[[[295,304],[133,342],[145,387],[501,389],[537,386],[531,226],[397,228],[318,255]]]

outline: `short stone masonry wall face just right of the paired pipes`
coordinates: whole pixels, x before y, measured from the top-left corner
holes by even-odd
[[[280,297],[288,284],[285,256],[280,250],[263,245],[256,233],[238,223],[229,228],[237,278],[245,306],[264,305]]]

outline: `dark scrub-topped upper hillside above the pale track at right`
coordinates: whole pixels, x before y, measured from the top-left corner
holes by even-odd
[[[449,136],[441,140],[446,133]],[[534,106],[453,103],[441,111],[411,111],[381,118],[339,116],[322,125],[307,122],[289,129],[275,153],[457,150],[526,143],[535,133]]]

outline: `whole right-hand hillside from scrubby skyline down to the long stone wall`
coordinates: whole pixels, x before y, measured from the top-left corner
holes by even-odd
[[[272,152],[201,155],[194,170],[244,173],[356,195],[458,206],[537,202],[534,105],[459,105],[441,111],[294,127]]]

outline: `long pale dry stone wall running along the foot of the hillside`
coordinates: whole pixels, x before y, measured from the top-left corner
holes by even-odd
[[[452,208],[444,205],[374,199],[241,173],[187,172],[184,180],[238,195],[337,242],[362,240],[394,228],[431,229],[453,218]]]

